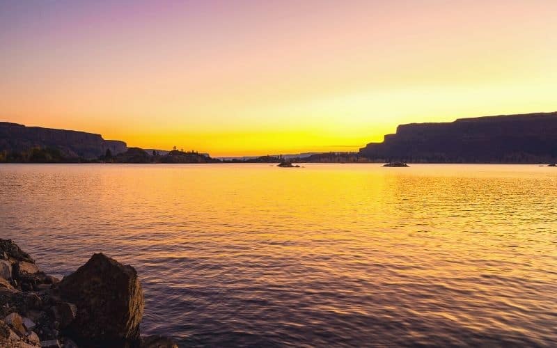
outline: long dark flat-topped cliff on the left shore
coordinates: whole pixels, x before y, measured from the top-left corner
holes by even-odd
[[[100,134],[0,122],[0,152],[20,152],[31,148],[52,148],[59,150],[65,158],[84,159],[100,157],[107,149],[113,155],[127,150],[123,141],[104,140]]]

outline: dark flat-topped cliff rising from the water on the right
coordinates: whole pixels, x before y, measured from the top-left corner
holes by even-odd
[[[360,155],[414,163],[549,163],[557,159],[557,112],[399,125]]]

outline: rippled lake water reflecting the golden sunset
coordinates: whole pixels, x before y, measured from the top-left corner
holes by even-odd
[[[184,346],[557,345],[557,168],[0,165],[0,237]]]

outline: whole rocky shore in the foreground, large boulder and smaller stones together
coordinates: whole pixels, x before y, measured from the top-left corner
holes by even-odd
[[[143,303],[136,270],[102,253],[59,280],[0,239],[0,347],[178,347],[141,338]]]

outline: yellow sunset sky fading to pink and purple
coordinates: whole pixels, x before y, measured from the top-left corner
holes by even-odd
[[[0,0],[0,120],[213,156],[557,111],[555,0]]]

